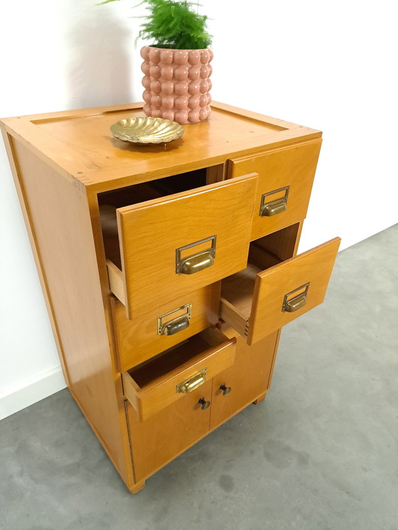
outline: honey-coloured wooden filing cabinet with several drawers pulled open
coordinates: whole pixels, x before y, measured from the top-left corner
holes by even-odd
[[[66,382],[131,492],[264,398],[340,242],[296,255],[321,132],[212,107],[159,146],[109,131],[141,104],[1,121]]]

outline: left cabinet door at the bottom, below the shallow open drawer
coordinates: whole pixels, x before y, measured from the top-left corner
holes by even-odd
[[[136,482],[152,475],[208,433],[211,406],[202,409],[198,401],[211,401],[211,390],[210,379],[142,422],[128,404]]]

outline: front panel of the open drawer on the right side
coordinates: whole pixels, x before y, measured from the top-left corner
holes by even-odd
[[[257,274],[249,345],[323,302],[339,245],[336,237]]]

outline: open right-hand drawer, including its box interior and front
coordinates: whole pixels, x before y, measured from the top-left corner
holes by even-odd
[[[336,237],[281,261],[267,237],[252,242],[247,268],[222,281],[220,317],[251,345],[303,315],[323,302],[339,245]]]

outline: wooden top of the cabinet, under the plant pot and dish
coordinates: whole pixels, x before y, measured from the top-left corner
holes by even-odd
[[[112,136],[116,121],[139,116],[141,103],[6,118],[0,124],[57,173],[94,193],[321,138],[320,131],[217,102],[207,121],[184,125],[181,139],[170,144],[137,146]]]

